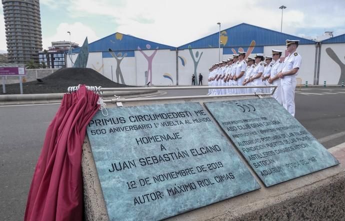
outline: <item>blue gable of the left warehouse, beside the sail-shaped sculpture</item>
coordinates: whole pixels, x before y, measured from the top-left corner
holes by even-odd
[[[138,37],[134,37],[128,34],[122,34],[116,32],[103,37],[99,40],[93,41],[88,44],[88,52],[104,52],[111,48],[113,51],[129,51],[137,50],[140,47],[142,50],[148,49],[170,49],[175,50],[176,47],[156,43],[149,40],[144,40]],[[80,48],[75,48],[72,50],[73,53],[78,53]]]

